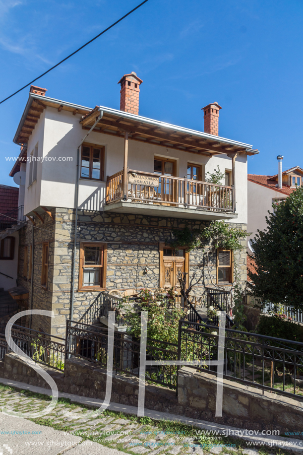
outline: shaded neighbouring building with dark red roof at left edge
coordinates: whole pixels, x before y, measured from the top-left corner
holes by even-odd
[[[19,188],[0,185],[0,290],[16,286]],[[13,227],[15,225],[15,227]]]

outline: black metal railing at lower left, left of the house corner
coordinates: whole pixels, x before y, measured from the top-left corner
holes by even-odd
[[[60,371],[64,369],[65,344],[59,336],[14,325],[11,337],[14,343],[35,362]],[[10,349],[5,337],[0,334],[0,360],[3,360],[8,352]]]

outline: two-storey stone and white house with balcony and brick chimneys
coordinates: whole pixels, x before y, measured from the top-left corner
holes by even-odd
[[[218,135],[218,103],[203,108],[204,132],[190,130],[138,115],[142,80],[134,72],[119,83],[120,110],[79,106],[31,86],[14,137],[22,169],[10,173],[26,168],[30,221],[20,231],[18,282],[30,291],[33,280],[29,308],[56,314],[33,316],[33,328],[63,333],[66,318],[79,319],[103,289],[178,287],[202,254],[175,255],[166,245],[174,228],[223,219],[246,229],[247,155],[258,151]],[[217,165],[225,185],[205,183]],[[245,282],[246,253],[236,259]],[[230,286],[231,253],[211,261],[213,280]]]

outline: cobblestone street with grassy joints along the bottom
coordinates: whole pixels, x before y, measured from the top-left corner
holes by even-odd
[[[38,412],[49,404],[50,397],[47,395],[0,387],[0,407],[4,412],[5,409]],[[35,419],[20,420],[1,412],[0,449],[1,446],[7,446],[12,450],[12,455],[58,455],[66,451],[68,455],[118,455],[118,451],[148,455],[289,453],[281,448],[279,452],[270,447],[251,449],[243,440],[207,435],[180,422],[155,421],[109,410],[97,417],[90,417],[90,411],[87,407],[59,398],[50,414]]]

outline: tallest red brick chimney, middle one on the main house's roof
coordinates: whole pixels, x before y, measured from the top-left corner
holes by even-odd
[[[139,114],[139,92],[140,84],[143,80],[139,79],[134,71],[124,74],[118,84],[121,84],[120,110],[130,114]]]

